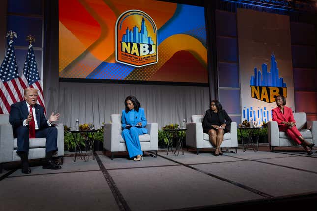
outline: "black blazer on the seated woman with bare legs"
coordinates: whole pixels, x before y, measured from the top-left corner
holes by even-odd
[[[213,112],[211,111],[211,109],[208,109],[206,111],[205,116],[203,117],[202,128],[203,128],[204,133],[207,133],[210,129],[213,128],[211,126],[213,123],[213,122],[211,122],[212,114],[213,114]],[[218,114],[219,114],[220,123],[226,124],[226,129],[225,129],[226,131],[225,132],[229,132],[230,131],[230,124],[232,122],[231,118],[228,116],[228,114],[225,110],[218,111]]]

